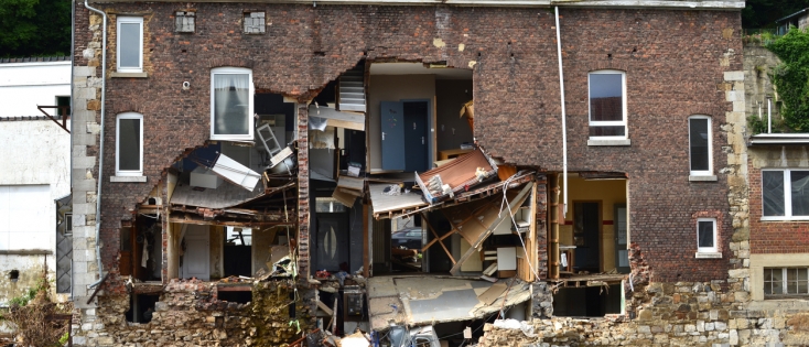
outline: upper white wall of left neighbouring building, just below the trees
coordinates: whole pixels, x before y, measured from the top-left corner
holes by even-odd
[[[0,117],[42,116],[56,96],[71,96],[71,62],[0,64]]]

